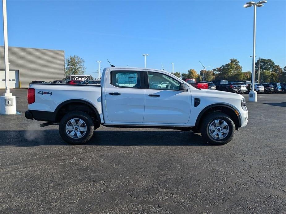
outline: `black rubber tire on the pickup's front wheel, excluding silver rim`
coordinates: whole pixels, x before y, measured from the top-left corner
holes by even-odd
[[[224,136],[223,139],[215,139],[211,137],[211,133],[209,132],[209,127],[215,120],[223,120],[228,125],[228,134],[226,134],[226,136]],[[230,142],[231,139],[233,138],[234,130],[235,130],[235,125],[233,120],[225,113],[211,113],[207,115],[205,118],[203,118],[203,121],[200,126],[200,131],[204,140],[213,145],[224,145]]]

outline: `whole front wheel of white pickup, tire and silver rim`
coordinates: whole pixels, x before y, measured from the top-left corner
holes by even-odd
[[[203,119],[200,128],[203,138],[213,145],[223,145],[233,138],[235,125],[224,113],[211,113]]]

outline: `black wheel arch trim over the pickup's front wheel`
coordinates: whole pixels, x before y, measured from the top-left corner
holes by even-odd
[[[226,105],[226,104],[212,104],[212,105],[208,105],[207,107],[205,107],[198,114],[195,127],[198,128],[200,126],[200,122],[202,121],[202,119],[207,114],[212,113],[212,112],[223,112],[223,113],[228,114],[233,119],[233,122],[235,124],[235,129],[238,130],[239,127],[241,127],[241,118],[240,118],[239,112],[232,106]]]

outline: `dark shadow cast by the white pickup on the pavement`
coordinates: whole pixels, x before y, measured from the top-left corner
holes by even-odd
[[[58,130],[0,131],[0,146],[69,146]],[[87,146],[209,146],[191,131],[96,130]]]

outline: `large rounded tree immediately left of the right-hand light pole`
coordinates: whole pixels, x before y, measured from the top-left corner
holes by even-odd
[[[229,63],[213,69],[217,75],[216,79],[235,81],[237,80],[236,78],[243,78],[242,67],[239,61],[237,59],[230,59],[229,61]]]

